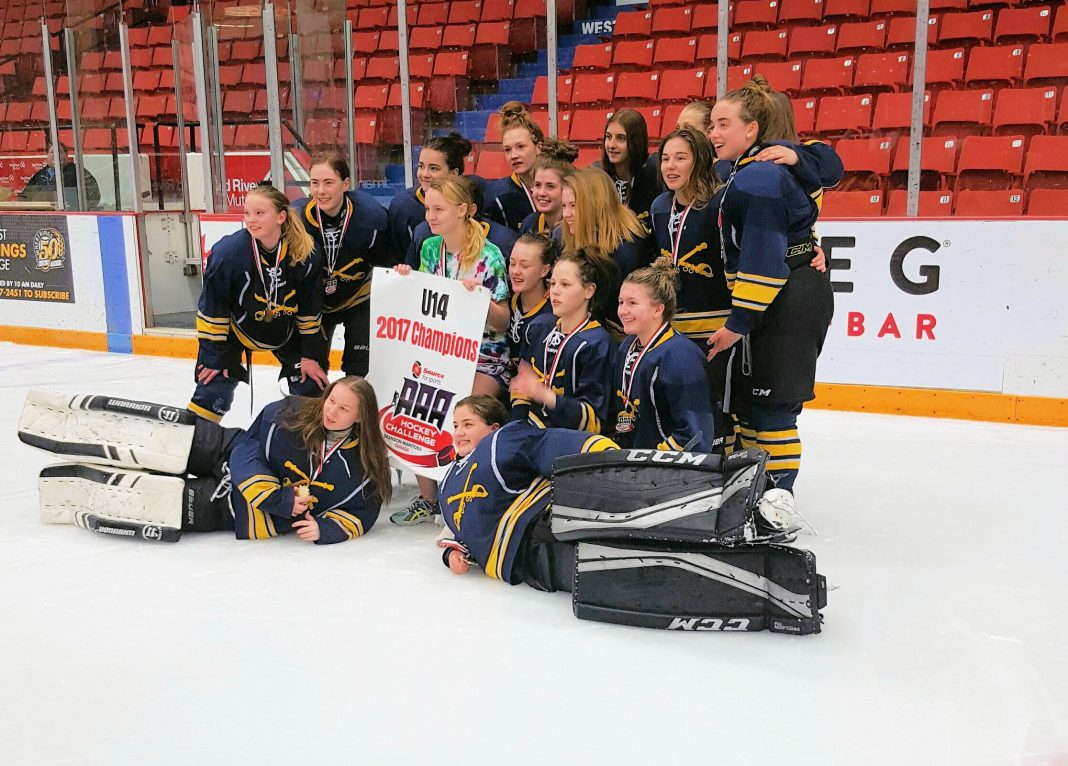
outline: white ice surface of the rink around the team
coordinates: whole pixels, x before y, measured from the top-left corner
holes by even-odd
[[[1068,429],[806,411],[823,632],[682,634],[453,576],[387,514],[329,547],[45,525],[28,389],[183,405],[192,362],[0,369],[0,764],[1068,766]]]

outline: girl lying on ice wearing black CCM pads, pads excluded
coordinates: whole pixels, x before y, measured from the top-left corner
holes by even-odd
[[[574,547],[548,527],[552,462],[616,449],[578,431],[508,422],[492,396],[470,396],[454,410],[456,462],[440,483],[445,530],[442,561],[457,575],[471,565],[509,584],[569,591]]]

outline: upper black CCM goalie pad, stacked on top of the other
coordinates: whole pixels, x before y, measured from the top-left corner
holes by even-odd
[[[552,533],[562,541],[739,545],[755,535],[763,450],[727,457],[608,450],[553,464]]]

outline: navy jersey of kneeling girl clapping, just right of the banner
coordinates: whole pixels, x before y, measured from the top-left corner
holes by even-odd
[[[515,420],[528,420],[541,428],[602,431],[612,400],[615,342],[599,322],[591,318],[567,334],[555,316],[539,316],[530,324],[520,354],[538,379],[552,387],[556,406],[549,409],[513,393]]]

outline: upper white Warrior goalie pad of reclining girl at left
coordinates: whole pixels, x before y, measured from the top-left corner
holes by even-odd
[[[150,402],[34,389],[22,407],[18,438],[79,463],[183,474],[195,418]]]

